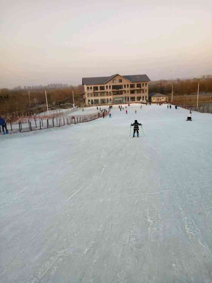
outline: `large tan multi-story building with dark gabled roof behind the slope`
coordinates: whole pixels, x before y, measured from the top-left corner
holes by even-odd
[[[115,104],[148,101],[147,75],[82,78],[85,90],[85,103]]]

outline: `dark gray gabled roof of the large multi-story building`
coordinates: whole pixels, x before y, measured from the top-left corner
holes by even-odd
[[[108,80],[112,79],[114,76],[117,76],[118,74],[108,76],[108,77],[95,77],[95,78],[82,78],[82,85],[101,85],[106,83]],[[147,75],[127,75],[122,76],[125,79],[128,79],[132,83],[136,82],[148,82],[150,79],[147,77]]]

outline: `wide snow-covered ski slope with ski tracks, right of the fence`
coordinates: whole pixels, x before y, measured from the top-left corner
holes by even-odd
[[[212,282],[212,115],[128,112],[0,136],[1,283]]]

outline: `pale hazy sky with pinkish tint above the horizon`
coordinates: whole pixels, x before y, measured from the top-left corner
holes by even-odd
[[[212,74],[212,1],[3,0],[0,88]]]

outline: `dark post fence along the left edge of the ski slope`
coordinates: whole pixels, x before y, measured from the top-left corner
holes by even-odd
[[[33,119],[28,120],[27,124],[22,125],[22,121],[20,120],[18,122],[18,129],[12,129],[12,121],[10,120],[10,130],[12,133],[26,133],[31,132],[35,130],[43,130],[48,128],[54,128],[54,127],[61,127],[65,125],[73,125],[73,124],[79,124],[79,123],[87,123],[90,121],[94,121],[98,118],[104,117],[109,115],[110,111],[107,112],[96,112],[93,114],[85,114],[85,115],[75,115],[75,116],[62,116],[62,117],[52,117],[47,120],[43,120],[42,118],[40,120]],[[6,124],[7,126],[7,124]],[[8,129],[9,130],[9,129]],[[0,133],[1,133],[1,127],[0,127]]]

